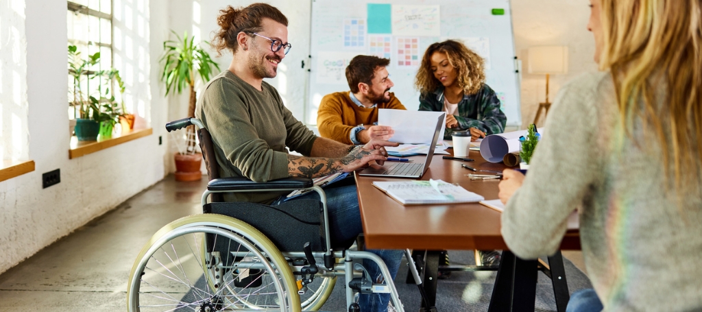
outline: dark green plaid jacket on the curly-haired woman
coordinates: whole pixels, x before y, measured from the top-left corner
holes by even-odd
[[[444,87],[441,86],[433,93],[422,93],[419,96],[419,110],[442,112],[444,110]],[[457,129],[446,129],[444,139],[451,140],[453,131],[465,131],[477,128],[486,134],[501,134],[505,131],[507,117],[500,110],[500,99],[495,91],[487,84],[472,96],[463,96],[458,103]]]

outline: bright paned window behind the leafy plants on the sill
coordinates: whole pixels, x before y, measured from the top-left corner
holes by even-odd
[[[112,0],[74,0],[68,1],[67,11],[68,44],[77,47],[80,57],[100,52],[100,62],[91,70],[109,70],[112,68]],[[82,79],[81,90],[92,95],[105,82],[100,79]],[[73,78],[68,76],[68,100],[73,102]],[[119,96],[119,94],[118,94]],[[69,119],[77,116],[77,107],[68,108]]]

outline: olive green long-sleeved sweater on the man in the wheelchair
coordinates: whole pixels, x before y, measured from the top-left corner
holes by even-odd
[[[287,178],[290,150],[308,156],[317,136],[285,108],[266,82],[262,91],[226,70],[204,88],[195,117],[212,136],[220,177],[263,182]],[[237,193],[227,201],[272,202],[283,193]]]

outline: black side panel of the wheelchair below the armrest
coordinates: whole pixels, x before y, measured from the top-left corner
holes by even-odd
[[[325,251],[324,214],[319,200],[291,200],[277,206],[252,202],[212,202],[205,213],[239,219],[259,230],[281,252],[300,252],[305,242]]]

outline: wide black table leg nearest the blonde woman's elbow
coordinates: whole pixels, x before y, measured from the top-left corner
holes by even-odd
[[[537,264],[536,260],[522,260],[504,250],[488,311],[533,312],[536,304]]]

